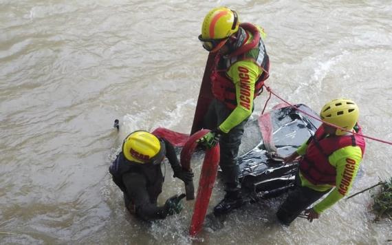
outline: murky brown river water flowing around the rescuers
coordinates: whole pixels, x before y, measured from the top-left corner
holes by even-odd
[[[109,164],[135,129],[190,131],[208,55],[197,35],[221,5],[265,28],[276,94],[315,111],[351,98],[364,134],[392,141],[391,1],[0,0],[0,244],[389,243],[391,221],[373,222],[369,192],[290,228],[274,220],[282,198],[253,204],[196,239],[193,202],[151,225],[124,209]],[[367,140],[351,193],[391,178],[390,156]],[[183,189],[168,168],[158,201]],[[217,184],[210,209],[223,195]]]

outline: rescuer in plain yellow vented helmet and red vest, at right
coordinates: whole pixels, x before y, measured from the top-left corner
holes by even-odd
[[[357,123],[358,116],[356,103],[345,98],[331,100],[320,111],[320,118],[325,122],[362,134]],[[362,136],[323,123],[297,151],[283,158],[285,162],[292,162],[302,156],[296,187],[276,213],[281,224],[290,225],[304,210],[307,220],[312,222],[347,195],[358,172],[364,148]],[[308,208],[328,192],[326,198]]]

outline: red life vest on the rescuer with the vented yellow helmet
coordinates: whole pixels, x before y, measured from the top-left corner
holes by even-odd
[[[358,125],[358,133],[362,129]],[[328,136],[324,127],[319,127],[314,136],[309,138],[305,156],[303,156],[299,169],[302,175],[312,184],[336,185],[336,168],[329,163],[329,156],[334,151],[348,146],[358,146],[364,154],[365,142],[362,136],[351,134],[347,136]]]

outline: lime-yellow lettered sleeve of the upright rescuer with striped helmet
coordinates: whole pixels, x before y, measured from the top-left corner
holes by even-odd
[[[234,63],[227,75],[235,84],[237,107],[219,125],[219,129],[228,133],[233,127],[246,120],[253,109],[254,84],[261,75],[261,69],[252,61],[238,61]]]

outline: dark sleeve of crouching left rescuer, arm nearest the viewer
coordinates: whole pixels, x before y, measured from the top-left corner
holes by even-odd
[[[127,195],[135,205],[136,215],[143,220],[158,220],[166,217],[164,207],[151,204],[146,189],[146,178],[140,173],[125,173],[122,177]]]

